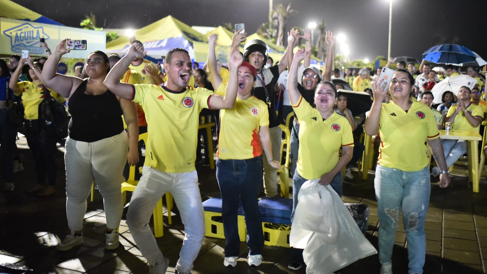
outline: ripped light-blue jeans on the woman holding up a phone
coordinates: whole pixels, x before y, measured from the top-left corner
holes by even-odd
[[[379,261],[391,262],[402,207],[408,241],[409,273],[423,273],[426,254],[425,216],[430,202],[430,171],[402,171],[377,165],[375,197],[379,228]]]

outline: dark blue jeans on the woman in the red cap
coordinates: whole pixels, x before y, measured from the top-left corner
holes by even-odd
[[[237,220],[240,201],[244,210],[249,254],[262,254],[264,233],[257,205],[262,175],[262,156],[246,160],[216,160],[216,178],[222,194],[225,257],[240,255]]]

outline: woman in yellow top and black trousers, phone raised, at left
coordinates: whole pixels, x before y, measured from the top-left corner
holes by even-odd
[[[30,67],[29,76],[32,81],[19,82],[19,75],[27,63]],[[14,93],[22,96],[24,105],[25,137],[30,151],[36,161],[37,185],[28,190],[28,193],[37,193],[38,196],[50,196],[56,193],[56,138],[50,136],[47,131],[39,132],[38,109],[44,100],[45,93],[50,92],[42,84],[41,72],[43,65],[33,62],[32,59],[20,59],[19,66],[10,78],[9,87]],[[57,93],[51,91],[51,96],[57,98]],[[47,175],[47,186],[45,184]]]

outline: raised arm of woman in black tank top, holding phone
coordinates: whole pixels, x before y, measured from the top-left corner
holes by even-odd
[[[83,79],[56,73],[57,64],[59,63],[61,56],[70,52],[69,49],[66,49],[66,40],[67,38],[62,39],[61,42],[57,44],[54,53],[51,54],[44,63],[44,68],[42,69],[42,82],[46,87],[55,90],[62,97],[69,98],[81,82],[83,82]]]

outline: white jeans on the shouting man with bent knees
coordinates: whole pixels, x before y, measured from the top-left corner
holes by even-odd
[[[167,173],[144,166],[130,201],[127,225],[142,255],[149,264],[155,264],[162,253],[150,230],[149,220],[157,201],[166,192],[174,197],[186,232],[176,265],[176,270],[184,273],[193,268],[205,236],[205,213],[196,171]]]

